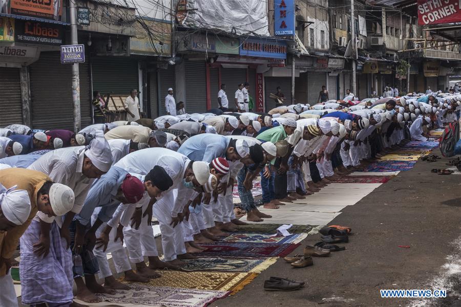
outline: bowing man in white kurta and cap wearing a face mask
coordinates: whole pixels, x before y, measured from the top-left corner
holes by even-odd
[[[183,210],[188,201],[186,192],[208,181],[209,167],[208,163],[193,162],[181,153],[166,148],[135,151],[115,164],[130,173],[137,174],[147,174],[156,165],[165,169],[173,185],[157,199],[153,207],[153,215],[159,221],[162,232],[164,260],[178,266],[184,264],[177,259],[178,257],[190,257],[186,254],[182,227],[176,227],[184,217]],[[126,230],[127,227],[124,232]]]

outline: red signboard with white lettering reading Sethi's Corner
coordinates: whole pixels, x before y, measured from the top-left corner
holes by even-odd
[[[459,0],[418,0],[418,24],[437,25],[461,21]]]

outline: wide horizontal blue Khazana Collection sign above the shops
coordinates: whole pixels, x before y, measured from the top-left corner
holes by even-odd
[[[286,59],[286,42],[266,38],[240,38],[240,55]]]

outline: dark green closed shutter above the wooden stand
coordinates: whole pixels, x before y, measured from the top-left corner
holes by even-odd
[[[129,57],[91,58],[93,91],[101,95],[130,95],[138,89],[138,61]]]

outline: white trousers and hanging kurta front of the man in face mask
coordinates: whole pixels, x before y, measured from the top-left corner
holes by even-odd
[[[174,190],[164,194],[154,204],[154,216],[157,218],[162,233],[162,249],[165,261],[176,259],[177,255],[185,254],[184,234],[181,225],[170,225],[171,212],[175,203]]]

